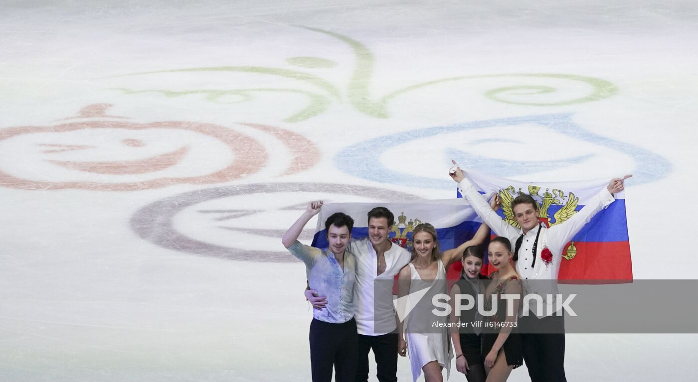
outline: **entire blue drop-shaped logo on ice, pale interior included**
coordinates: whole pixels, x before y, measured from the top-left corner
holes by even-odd
[[[597,156],[599,151],[607,153]],[[369,181],[454,189],[445,172],[433,170],[447,167],[450,159],[502,178],[547,171],[568,176],[574,166],[592,166],[614,171],[609,178],[634,174],[636,185],[664,178],[672,169],[658,154],[581,128],[572,114],[487,119],[371,137],[344,148],[334,165]]]

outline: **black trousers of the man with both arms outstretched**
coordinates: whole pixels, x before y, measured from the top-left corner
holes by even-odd
[[[531,382],[567,382],[565,378],[565,319],[564,316],[547,316],[539,319],[533,314],[519,317],[523,345],[523,362],[526,362]],[[551,333],[525,333],[526,328]]]

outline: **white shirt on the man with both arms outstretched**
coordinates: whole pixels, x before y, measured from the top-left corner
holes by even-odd
[[[498,236],[504,236],[511,241],[512,251],[514,251],[519,237],[523,235],[521,247],[519,247],[519,260],[516,263],[516,267],[517,272],[523,278],[524,289],[526,293],[538,293],[542,295],[544,305],[552,304],[553,307],[556,307],[555,294],[558,293],[556,282],[546,283],[539,281],[526,283],[526,280],[558,280],[565,244],[572,240],[574,235],[576,235],[577,232],[584,227],[584,224],[588,223],[596,213],[616,200],[611,192],[604,187],[601,192],[584,205],[584,208],[577,211],[577,213],[572,215],[566,222],[556,224],[550,228],[541,225],[534,261],[533,244],[535,243],[538,228],[531,229],[526,234],[523,234],[522,229],[508,224],[497,215],[495,211],[492,211],[487,199],[485,199],[480,192],[477,192],[475,186],[473,186],[467,178],[461,181],[459,187],[461,188],[463,197],[468,199],[468,202],[473,206],[477,215],[487,223],[492,231]],[[550,250],[552,254],[552,260],[549,263],[546,263],[546,261],[540,257],[544,248]],[[546,297],[548,293],[552,293],[552,300]],[[535,301],[532,301],[530,310],[535,312],[534,308]],[[547,311],[544,309],[542,316],[550,315],[546,314],[546,312]]]

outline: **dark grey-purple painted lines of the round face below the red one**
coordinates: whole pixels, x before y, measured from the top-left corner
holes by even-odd
[[[388,190],[386,188],[336,183],[253,183],[246,185],[230,185],[226,187],[206,188],[204,190],[184,192],[183,194],[173,195],[172,197],[166,197],[165,199],[148,204],[136,211],[135,215],[131,217],[131,228],[144,240],[148,240],[168,250],[230,260],[277,263],[298,261],[285,251],[267,252],[245,250],[243,248],[224,247],[205,243],[179,233],[172,225],[172,221],[177,213],[204,201],[244,194],[269,194],[277,192],[323,192],[327,194],[357,195],[386,202],[421,199],[414,194]],[[253,208],[251,206],[236,207],[244,210]],[[266,229],[245,229],[244,231],[265,236],[269,236],[272,232],[278,234],[278,231]],[[281,236],[278,237],[281,238]],[[279,246],[281,247],[281,244],[279,244]]]

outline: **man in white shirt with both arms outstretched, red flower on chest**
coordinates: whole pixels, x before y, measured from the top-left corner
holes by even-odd
[[[456,165],[456,162],[453,162]],[[455,166],[454,166],[455,167]],[[584,224],[615,201],[614,193],[624,189],[624,178],[615,178],[599,194],[586,203],[581,211],[575,213],[562,224],[547,228],[538,220],[539,206],[530,195],[520,195],[512,201],[514,218],[521,228],[505,222],[495,211],[489,208],[487,200],[478,192],[460,168],[452,169],[450,176],[459,183],[461,194],[475,209],[477,215],[489,225],[498,236],[509,238],[514,245],[514,261],[517,272],[523,278],[528,293],[547,296],[556,290],[556,280],[560,272],[564,245],[579,232]],[[551,280],[551,282],[526,280]],[[556,307],[555,293],[543,298],[543,305]],[[523,360],[528,368],[528,375],[533,382],[565,382],[565,323],[563,315],[537,309],[535,300],[529,305],[528,314],[521,316],[519,326],[526,328],[546,328],[544,334],[521,333],[523,343]],[[542,314],[541,314],[542,312]]]

